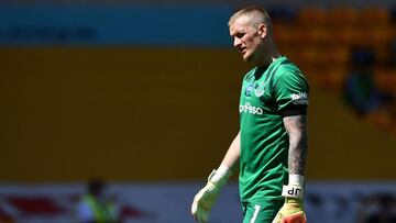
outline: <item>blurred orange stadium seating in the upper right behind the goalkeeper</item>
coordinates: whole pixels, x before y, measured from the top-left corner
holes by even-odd
[[[289,12],[287,15],[278,11],[275,10],[274,26],[282,52],[299,64],[309,79],[327,90],[342,93],[345,76],[352,68],[351,51],[365,47],[375,54],[376,85],[396,96],[396,65],[391,52],[396,42],[396,22],[391,9],[302,7],[284,10],[284,13]],[[394,132],[394,109],[387,108],[374,116],[376,124]]]

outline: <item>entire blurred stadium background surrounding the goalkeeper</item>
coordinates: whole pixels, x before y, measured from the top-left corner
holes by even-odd
[[[251,3],[310,82],[310,222],[365,223],[377,194],[396,207],[396,3]],[[243,4],[1,0],[0,222],[73,222],[97,177],[124,222],[193,222],[190,200],[238,132],[249,65],[227,22]],[[356,67],[370,73],[359,99]],[[237,178],[212,218],[241,222]]]

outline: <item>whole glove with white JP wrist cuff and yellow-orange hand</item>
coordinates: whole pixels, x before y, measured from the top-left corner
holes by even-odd
[[[307,223],[302,207],[302,176],[289,176],[289,185],[284,186],[282,192],[282,196],[285,197],[285,203],[276,214],[273,223]]]

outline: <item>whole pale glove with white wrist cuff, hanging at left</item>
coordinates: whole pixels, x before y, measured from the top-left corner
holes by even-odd
[[[220,165],[210,174],[208,183],[194,197],[191,214],[196,221],[201,223],[209,221],[210,210],[231,175],[232,171],[226,165]]]

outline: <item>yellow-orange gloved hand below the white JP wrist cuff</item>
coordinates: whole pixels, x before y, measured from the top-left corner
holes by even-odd
[[[302,200],[299,198],[286,198],[285,204],[276,214],[273,223],[307,223]]]

